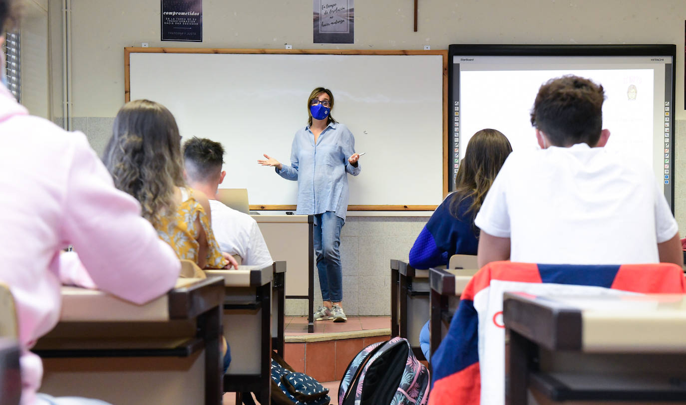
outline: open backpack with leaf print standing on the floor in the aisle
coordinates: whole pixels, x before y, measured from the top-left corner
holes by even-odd
[[[338,387],[338,405],[424,405],[428,400],[429,370],[401,337],[362,349]]]

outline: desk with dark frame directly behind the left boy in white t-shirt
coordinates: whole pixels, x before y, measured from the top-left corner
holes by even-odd
[[[232,358],[224,375],[224,391],[270,397],[274,265],[205,273],[224,278],[224,336]]]

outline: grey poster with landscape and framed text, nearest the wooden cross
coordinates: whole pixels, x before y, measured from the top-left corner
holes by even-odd
[[[355,42],[355,0],[313,0],[314,43]]]

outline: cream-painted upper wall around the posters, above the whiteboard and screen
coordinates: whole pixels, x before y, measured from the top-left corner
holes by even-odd
[[[61,3],[51,0],[51,3]],[[427,0],[358,1],[355,44],[312,42],[309,1],[203,1],[204,42],[161,42],[160,3],[72,0],[75,116],[113,116],[123,103],[123,47],[296,49],[447,49],[453,43],[669,43],[684,49],[686,1]],[[61,58],[61,52],[53,52]],[[677,57],[683,72],[683,53]],[[189,74],[192,74],[189,66]],[[192,77],[192,76],[191,76]],[[59,87],[59,86],[58,86]],[[676,119],[683,109],[683,74],[676,82]],[[61,89],[60,89],[61,91]]]

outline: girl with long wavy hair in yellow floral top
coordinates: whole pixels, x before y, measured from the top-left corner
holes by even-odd
[[[115,186],[141,203],[143,217],[180,259],[201,269],[236,265],[215,241],[206,195],[183,180],[180,135],[167,108],[148,100],[126,103],[115,118],[104,162]]]

